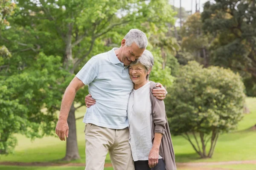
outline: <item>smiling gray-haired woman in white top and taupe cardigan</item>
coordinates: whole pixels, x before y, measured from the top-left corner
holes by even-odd
[[[165,105],[151,92],[156,83],[148,80],[153,65],[153,55],[145,50],[129,67],[134,82],[127,109],[131,153],[135,170],[176,170]]]

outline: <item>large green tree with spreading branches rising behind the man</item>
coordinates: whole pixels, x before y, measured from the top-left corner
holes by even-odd
[[[117,29],[118,26],[127,23],[131,26],[140,26],[147,21],[161,27],[166,21],[172,20],[172,10],[167,8],[166,0],[149,3],[141,0],[17,0],[15,2],[18,8],[10,19],[12,27],[0,35],[3,40],[1,43],[6,44],[14,60],[11,62],[12,69],[7,74],[18,74],[27,68],[32,68],[37,61],[35,56],[44,52],[46,56],[61,56],[61,66],[58,69],[69,74],[60,74],[55,84],[66,87],[70,77],[74,77],[86,60],[109,49],[105,46],[107,36],[114,34],[113,38],[118,39],[124,36],[124,31],[128,31]],[[158,10],[159,8],[162,10]],[[118,32],[122,34],[117,34]],[[55,73],[52,74],[55,76]],[[64,88],[54,90],[56,94],[54,98],[57,100],[45,101],[44,107],[47,108],[47,112],[59,110]],[[64,160],[80,158],[76,141],[75,111],[84,105],[86,94],[86,88],[80,90],[74,101],[79,106],[75,108],[73,104],[70,108],[68,117],[70,134],[67,138]],[[49,120],[49,123],[53,121]]]

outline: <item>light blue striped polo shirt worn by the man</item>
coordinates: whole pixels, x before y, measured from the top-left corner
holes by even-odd
[[[116,57],[116,49],[92,57],[76,74],[96,100],[87,108],[84,123],[111,129],[128,127],[126,110],[134,85],[128,67]]]

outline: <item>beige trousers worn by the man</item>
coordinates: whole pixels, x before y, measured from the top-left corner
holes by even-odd
[[[110,129],[86,124],[85,132],[85,170],[103,170],[109,151],[114,170],[135,170],[131,155],[129,129]]]

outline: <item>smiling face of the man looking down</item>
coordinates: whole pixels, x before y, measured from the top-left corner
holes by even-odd
[[[124,63],[124,65],[130,65],[131,62],[139,59],[139,57],[145,51],[145,48],[139,48],[134,42],[130,47],[125,45],[125,40],[122,40],[122,47],[119,53],[119,60]]]

